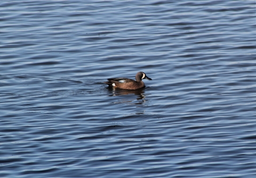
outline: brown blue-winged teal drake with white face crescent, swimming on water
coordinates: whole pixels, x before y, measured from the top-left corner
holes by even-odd
[[[108,81],[104,83],[108,84],[109,87],[116,87],[127,90],[137,90],[145,87],[145,84],[144,82],[142,82],[142,79],[152,80],[148,78],[146,73],[144,72],[138,72],[135,76],[135,79],[136,81],[127,78],[108,79]]]

